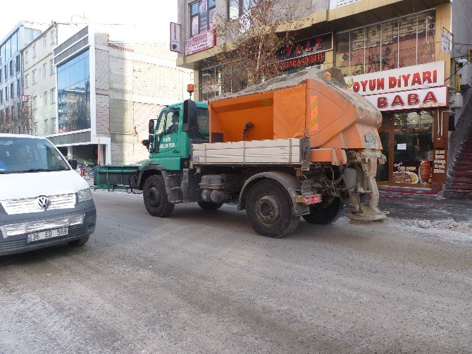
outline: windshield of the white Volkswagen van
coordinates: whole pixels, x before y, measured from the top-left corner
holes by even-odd
[[[66,160],[46,139],[0,137],[0,174],[69,169]]]

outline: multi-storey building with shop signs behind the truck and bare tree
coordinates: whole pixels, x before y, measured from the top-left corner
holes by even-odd
[[[440,192],[466,138],[454,130],[468,130],[472,122],[471,16],[465,15],[472,13],[472,3],[321,0],[300,5],[294,42],[281,51],[280,64],[287,71],[340,68],[349,90],[383,113],[379,134],[387,163],[378,170],[378,184]],[[180,0],[178,6],[178,66],[194,70],[196,97],[211,99],[223,89],[206,80],[224,78],[218,63],[207,63],[225,50],[213,18],[230,24],[251,1]]]

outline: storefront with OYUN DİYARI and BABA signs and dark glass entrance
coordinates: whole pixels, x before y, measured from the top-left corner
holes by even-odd
[[[379,185],[442,189],[449,123],[444,72],[444,61],[437,61],[346,77],[350,90],[383,112],[379,135],[387,162],[379,166]]]

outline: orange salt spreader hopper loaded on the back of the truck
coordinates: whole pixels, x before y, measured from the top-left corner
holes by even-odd
[[[337,83],[331,75],[337,76]],[[324,181],[322,188],[338,197],[349,195],[346,204],[352,210],[347,216],[384,219],[375,182],[378,164],[385,163],[378,135],[380,111],[342,87],[338,69],[319,76],[295,85],[259,85],[256,92],[209,102],[210,142],[302,138],[309,142],[311,169],[341,167],[343,183]]]

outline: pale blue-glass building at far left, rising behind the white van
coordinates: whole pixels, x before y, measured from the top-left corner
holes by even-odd
[[[32,130],[23,96],[21,51],[39,36],[45,25],[22,21],[0,43],[0,133]]]

